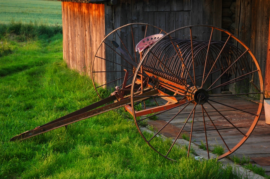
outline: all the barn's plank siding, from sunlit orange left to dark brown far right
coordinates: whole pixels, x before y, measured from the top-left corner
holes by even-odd
[[[222,3],[219,0],[119,0],[114,6],[104,3],[62,2],[63,57],[71,69],[90,75],[94,53],[105,34],[128,23],[149,23],[167,32],[196,24],[221,27]],[[259,61],[263,78],[267,80],[265,84],[268,91],[269,78],[265,72],[268,75],[270,73],[269,67],[266,69],[269,8],[270,1],[237,0],[235,18],[235,35],[250,47]],[[202,28],[193,31],[192,35],[196,36],[195,40],[208,40],[210,33]],[[189,31],[186,31],[183,38],[189,38],[188,36]],[[214,34],[213,39],[221,40],[221,33]],[[105,49],[104,54],[99,56],[105,56]],[[110,68],[105,65],[97,64],[95,68]],[[102,75],[100,78],[101,81],[106,81],[106,78],[116,79],[119,76]],[[212,77],[211,80],[215,78]],[[253,80],[256,82],[256,79]],[[218,92],[220,90],[215,91]]]

